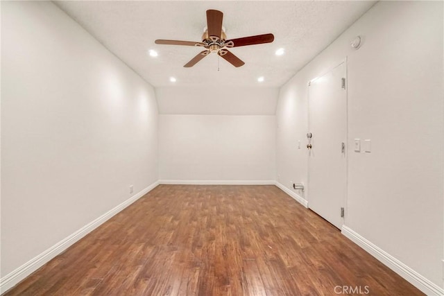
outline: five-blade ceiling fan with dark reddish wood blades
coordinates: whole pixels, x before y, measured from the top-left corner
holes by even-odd
[[[192,58],[184,67],[193,67],[197,62],[205,58],[210,53],[217,53],[219,56],[230,62],[234,67],[241,67],[245,64],[228,49],[232,47],[263,44],[273,42],[273,34],[262,34],[249,37],[227,40],[227,36],[222,27],[223,13],[219,10],[207,10],[207,30],[203,33],[202,42],[180,41],[180,40],[155,40],[155,44],[200,46],[205,48]]]

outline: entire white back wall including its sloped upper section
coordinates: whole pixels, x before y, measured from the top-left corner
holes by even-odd
[[[275,180],[273,87],[160,87],[159,175],[165,182]]]

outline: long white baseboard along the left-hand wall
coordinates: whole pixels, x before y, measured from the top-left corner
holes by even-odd
[[[20,281],[28,277],[28,275],[31,275],[31,273],[35,272],[35,270],[39,269],[55,256],[62,253],[68,247],[76,243],[78,240],[80,240],[80,238],[83,238],[83,236],[86,236],[87,234],[89,234],[89,232],[92,232],[94,229],[105,223],[105,221],[112,218],[112,216],[118,214],[120,211],[141,198],[143,195],[153,190],[158,184],[158,181],[154,182],[150,186],[146,187],[146,189],[143,189],[139,193],[136,193],[128,200],[119,204],[117,207],[114,207],[114,209],[111,209],[99,218],[96,218],[96,220],[78,229],[76,232],[74,232],[74,234],[71,234],[67,238],[62,239],[62,241],[56,243],[56,245],[53,245],[48,250],[35,256],[33,259],[24,263],[24,265],[20,266],[16,270],[13,270],[5,277],[2,277],[0,279],[0,294],[17,285]]]

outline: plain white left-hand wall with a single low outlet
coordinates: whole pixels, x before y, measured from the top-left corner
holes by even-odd
[[[153,87],[53,3],[1,6],[4,277],[158,178]]]

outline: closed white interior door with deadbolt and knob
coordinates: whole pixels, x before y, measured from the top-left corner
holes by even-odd
[[[309,85],[308,204],[341,229],[347,193],[345,62]],[[311,148],[310,148],[311,145]]]

